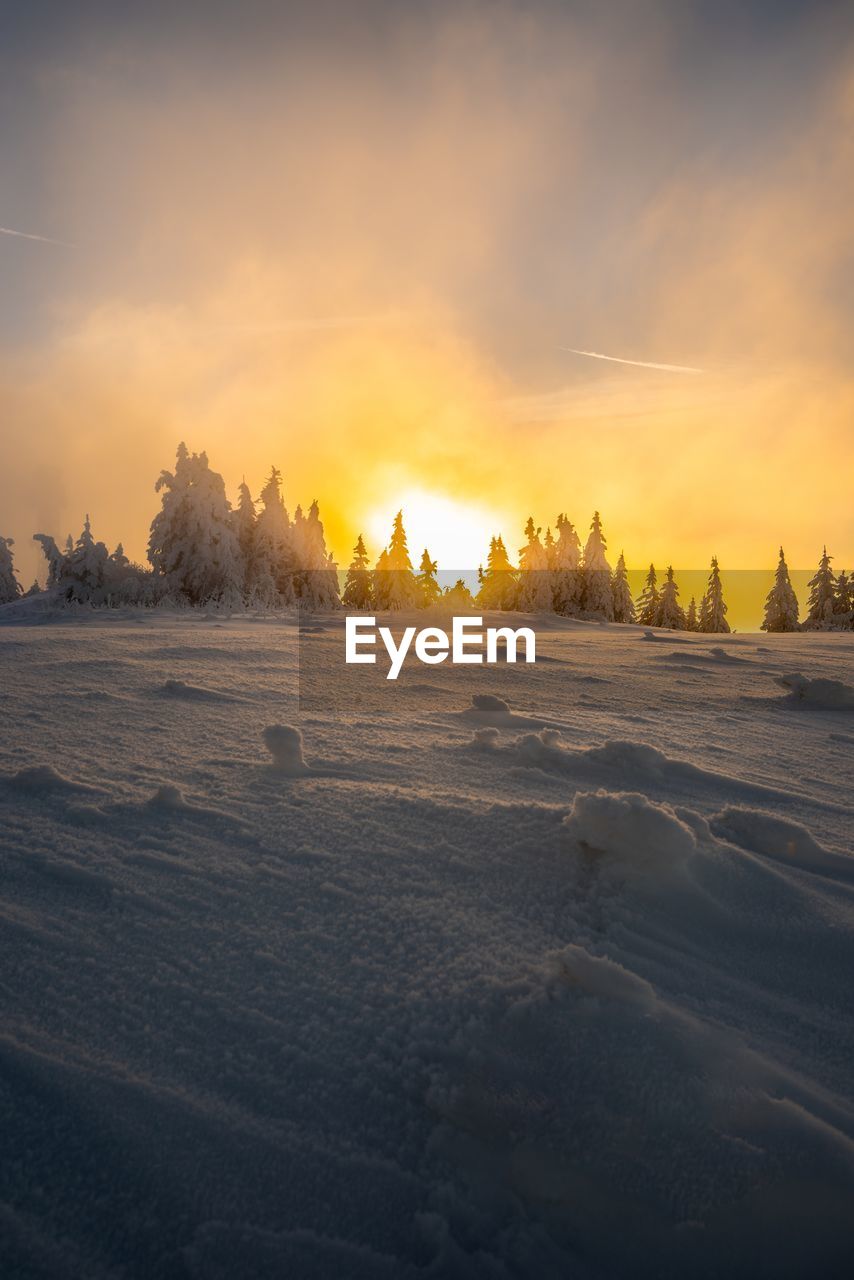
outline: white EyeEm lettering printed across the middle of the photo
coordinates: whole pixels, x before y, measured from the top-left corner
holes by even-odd
[[[410,649],[419,662],[435,667],[451,658],[452,663],[498,662],[498,646],[503,643],[507,662],[516,662],[520,643],[525,645],[525,662],[536,662],[536,636],[530,627],[487,627],[483,618],[453,618],[451,636],[442,627],[405,627],[397,644],[389,627],[378,627],[376,618],[348,617],[346,621],[344,658],[348,663],[375,663],[376,640],[383,641],[389,657],[387,680],[397,680]],[[415,640],[415,645],[412,641]],[[485,653],[484,653],[485,644]]]

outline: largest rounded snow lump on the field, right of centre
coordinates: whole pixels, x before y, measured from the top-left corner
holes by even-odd
[[[695,831],[668,804],[636,791],[580,792],[563,831],[583,852],[635,868],[679,867],[698,847]]]

